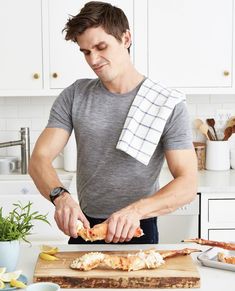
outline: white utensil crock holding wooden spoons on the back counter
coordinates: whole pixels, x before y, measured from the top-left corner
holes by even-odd
[[[226,171],[230,169],[229,141],[206,142],[206,169]]]

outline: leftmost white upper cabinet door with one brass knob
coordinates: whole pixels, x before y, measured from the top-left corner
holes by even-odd
[[[41,89],[41,0],[1,1],[0,35],[0,90]]]

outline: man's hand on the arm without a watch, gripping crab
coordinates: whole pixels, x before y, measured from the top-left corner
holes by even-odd
[[[130,241],[140,226],[140,214],[131,207],[123,208],[113,213],[106,222],[108,223],[108,233],[105,242]]]

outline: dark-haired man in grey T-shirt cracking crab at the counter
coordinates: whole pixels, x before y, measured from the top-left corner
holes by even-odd
[[[78,44],[98,78],[77,80],[56,99],[47,128],[35,145],[29,173],[42,195],[55,204],[55,220],[71,236],[69,243],[84,242],[77,238],[77,220],[85,228],[106,221],[106,243],[157,243],[156,217],[196,195],[197,164],[185,104],[178,102],[168,110],[166,120],[156,114],[158,119],[153,121],[164,121],[164,127],[160,131],[153,128],[160,134],[159,142],[151,154],[147,152],[146,163],[118,149],[122,130],[129,130],[124,126],[128,112],[134,108],[136,96],[143,97],[139,92],[146,88],[145,82],[151,82],[131,63],[128,20],[121,9],[92,1],[68,21],[65,31],[66,40]],[[170,89],[157,86],[172,97]],[[161,92],[156,96],[167,99]],[[141,113],[143,108],[139,109]],[[52,167],[73,129],[79,204],[63,189]],[[159,190],[164,156],[174,180]],[[133,238],[138,226],[145,235]]]

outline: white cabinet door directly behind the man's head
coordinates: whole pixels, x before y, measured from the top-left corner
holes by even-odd
[[[96,75],[85,61],[77,44],[66,41],[62,30],[70,15],[76,15],[87,1],[50,0],[50,88],[65,88],[79,78],[94,78]],[[104,1],[105,2],[105,1]],[[108,1],[124,10],[130,26],[133,22],[133,0]]]

